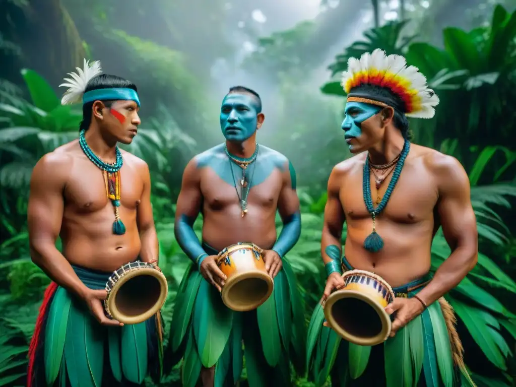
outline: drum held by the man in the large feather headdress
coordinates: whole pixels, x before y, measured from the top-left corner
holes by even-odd
[[[391,333],[391,317],[384,308],[394,300],[391,286],[365,270],[346,271],[344,287],[324,305],[329,326],[345,340],[358,345],[383,343]]]

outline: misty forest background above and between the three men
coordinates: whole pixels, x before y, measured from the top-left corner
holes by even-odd
[[[502,3],[508,11],[516,6]],[[0,5],[0,46],[13,43],[19,54],[0,61],[0,79],[23,88],[20,69],[33,69],[61,95],[62,78],[83,58],[100,60],[104,72],[138,86],[142,127],[173,122],[195,140],[192,152],[222,141],[222,98],[231,86],[247,86],[263,101],[259,142],[297,162],[300,153],[320,152],[330,141],[346,148],[343,100],[321,87],[338,78],[328,67],[345,47],[367,43],[365,31],[405,20],[398,46],[418,34],[442,47],[443,28],[489,23],[494,6],[491,0],[9,0]],[[310,150],[287,146],[323,132],[325,140]],[[182,153],[181,163],[191,156]]]

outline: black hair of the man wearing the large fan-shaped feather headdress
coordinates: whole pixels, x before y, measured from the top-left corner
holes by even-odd
[[[361,85],[351,89],[348,95],[371,98],[375,101],[384,102],[391,106],[394,109],[394,126],[401,132],[403,138],[408,140],[411,139],[411,133],[409,131],[409,120],[403,112],[405,110],[405,103],[389,88],[375,85]]]

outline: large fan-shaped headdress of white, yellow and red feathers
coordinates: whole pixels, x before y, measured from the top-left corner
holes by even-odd
[[[387,56],[380,49],[362,54],[360,59],[349,58],[341,85],[348,94],[348,101],[391,106],[407,117],[432,118],[434,106],[439,104],[438,96],[428,88],[426,77],[417,67],[407,67],[404,57]],[[374,87],[388,89],[392,98],[379,96]]]

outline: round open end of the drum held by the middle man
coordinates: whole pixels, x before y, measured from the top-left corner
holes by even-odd
[[[230,277],[222,287],[222,301],[236,312],[258,308],[272,294],[274,282],[259,270],[246,271]]]

